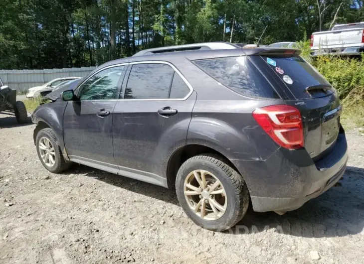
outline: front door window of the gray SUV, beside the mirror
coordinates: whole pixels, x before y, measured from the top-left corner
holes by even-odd
[[[117,99],[120,93],[119,80],[124,66],[105,69],[82,86],[79,94],[80,100],[111,100]]]

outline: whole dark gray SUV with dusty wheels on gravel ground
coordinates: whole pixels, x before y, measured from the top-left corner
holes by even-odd
[[[202,43],[99,66],[32,115],[46,169],[71,162],[176,188],[197,225],[282,214],[344,174],[335,89],[300,51]],[[72,89],[70,89],[72,88]]]

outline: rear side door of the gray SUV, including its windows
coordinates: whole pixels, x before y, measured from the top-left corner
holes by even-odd
[[[164,185],[162,163],[185,145],[196,94],[172,64],[137,62],[129,65],[121,98],[113,113],[120,174]]]

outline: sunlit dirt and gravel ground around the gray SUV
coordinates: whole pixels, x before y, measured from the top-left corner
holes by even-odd
[[[341,185],[283,216],[194,225],[175,192],[74,165],[51,174],[34,125],[0,118],[0,263],[364,263],[364,132],[347,131]],[[340,184],[338,184],[340,185]]]

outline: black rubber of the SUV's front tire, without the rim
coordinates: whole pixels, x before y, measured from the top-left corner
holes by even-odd
[[[40,155],[39,141],[42,137],[47,137],[54,148],[55,163],[53,166],[45,165],[45,163]],[[71,162],[66,162],[66,160],[63,158],[61,148],[58,144],[57,136],[53,132],[53,130],[50,128],[42,129],[37,133],[36,139],[35,139],[35,146],[37,149],[37,153],[38,153],[40,162],[50,172],[61,173],[61,172],[65,171],[66,169],[68,169],[70,167],[70,165],[72,164]]]

